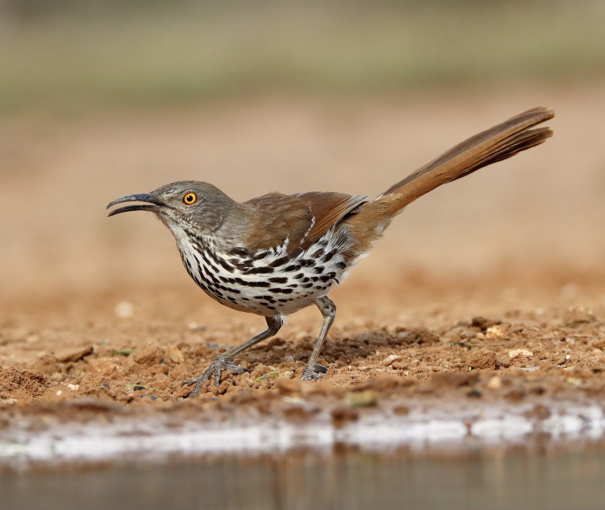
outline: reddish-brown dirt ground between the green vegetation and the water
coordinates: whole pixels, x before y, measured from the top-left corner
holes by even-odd
[[[602,94],[520,85],[473,98],[280,97],[5,118],[0,428],[78,422],[99,408],[110,419],[144,407],[210,422],[250,410],[312,420],[327,410],[339,423],[388,402],[405,414],[423,399],[531,400],[538,417],[548,416],[547,400],[601,405]],[[264,321],[197,289],[159,222],[106,218],[106,203],[183,178],[240,200],[275,189],[378,194],[541,104],[557,111],[553,139],[412,204],[332,293],[338,312],[321,381],[298,381],[321,324],[313,308],[238,356],[250,374],[183,400],[183,381]]]

